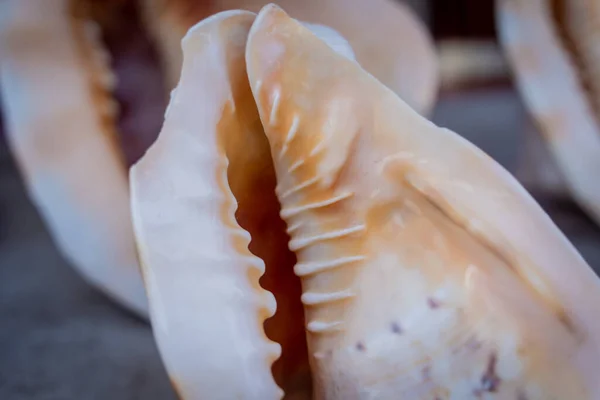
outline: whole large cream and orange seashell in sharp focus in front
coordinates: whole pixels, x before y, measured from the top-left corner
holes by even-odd
[[[277,6],[182,48],[130,172],[182,398],[600,396],[600,281],[506,170]]]

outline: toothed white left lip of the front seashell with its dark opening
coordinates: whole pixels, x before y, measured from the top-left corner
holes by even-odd
[[[188,32],[161,134],[131,170],[155,335],[183,398],[312,392],[296,258],[245,70],[254,17],[223,12]]]

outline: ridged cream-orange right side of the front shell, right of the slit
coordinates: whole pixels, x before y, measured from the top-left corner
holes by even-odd
[[[317,398],[598,398],[599,281],[506,171],[281,11],[246,52]]]

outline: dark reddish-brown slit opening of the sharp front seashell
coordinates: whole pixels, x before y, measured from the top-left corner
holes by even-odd
[[[250,252],[265,263],[260,279],[257,276],[250,279],[259,279],[260,285],[273,293],[277,302],[275,314],[264,323],[267,337],[282,347],[281,356],[273,363],[273,375],[286,395],[309,399],[312,384],[300,300],[302,289],[300,279],[294,274],[296,256],[288,247],[287,226],[279,215],[269,143],[248,83],[233,87],[240,88],[233,93],[239,117],[223,118],[222,121],[227,122],[219,125],[218,132],[228,160],[229,189],[237,202],[236,221],[250,233]],[[231,106],[224,112],[232,112]]]

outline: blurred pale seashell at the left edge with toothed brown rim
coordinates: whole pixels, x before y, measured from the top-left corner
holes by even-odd
[[[146,316],[114,75],[82,3],[0,2],[9,147],[57,246],[91,284]],[[90,28],[92,27],[92,28]]]

